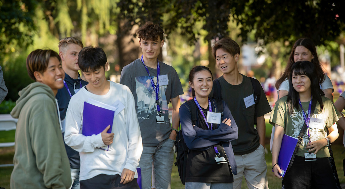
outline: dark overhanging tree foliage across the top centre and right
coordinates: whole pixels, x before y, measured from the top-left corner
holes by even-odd
[[[191,42],[200,36],[196,22],[203,23],[208,32],[205,39],[210,40],[228,36],[227,22],[233,17],[243,41],[254,30],[255,39],[263,39],[265,44],[309,37],[320,45],[345,29],[344,5],[342,0],[129,0],[120,1],[118,7],[121,17],[128,20],[126,28],[151,20],[167,34],[180,29]]]

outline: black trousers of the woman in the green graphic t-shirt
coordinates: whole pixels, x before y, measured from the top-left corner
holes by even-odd
[[[294,162],[283,178],[287,189],[333,189],[336,188],[331,163],[328,158],[305,161],[295,156]]]

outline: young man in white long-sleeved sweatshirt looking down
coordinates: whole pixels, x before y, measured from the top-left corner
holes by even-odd
[[[85,47],[78,63],[89,84],[73,95],[66,113],[65,142],[80,152],[80,188],[139,188],[135,174],[142,152],[142,140],[134,97],[125,85],[106,79],[107,57],[99,47]],[[123,107],[99,134],[82,133],[84,102],[89,99]],[[117,112],[117,111],[116,111]],[[114,141],[114,142],[113,142]],[[109,145],[108,150],[101,147]]]

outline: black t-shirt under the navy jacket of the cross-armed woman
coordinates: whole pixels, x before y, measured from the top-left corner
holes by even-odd
[[[204,117],[201,115],[199,108],[195,104],[198,112],[198,121],[195,126],[201,129],[208,130],[208,127],[204,121]],[[208,109],[201,107],[206,117]],[[213,110],[214,111],[214,110]],[[208,123],[209,126],[210,123]],[[217,129],[218,125],[213,124],[213,129]],[[229,168],[229,161],[226,157],[225,151],[221,146],[221,143],[216,145],[220,157],[224,157],[228,163],[218,164],[215,160],[216,152],[214,147],[211,147],[204,151],[189,150],[187,167],[186,167],[186,182],[219,182],[219,183],[231,183],[234,182],[233,175]]]

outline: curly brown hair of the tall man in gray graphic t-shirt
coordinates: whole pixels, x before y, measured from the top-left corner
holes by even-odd
[[[160,41],[163,40],[163,29],[159,27],[158,24],[152,23],[151,21],[146,22],[138,30],[139,39],[152,40],[155,41],[160,38]]]

